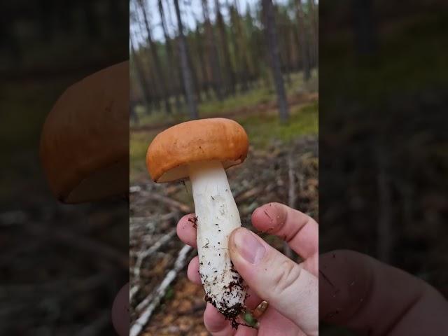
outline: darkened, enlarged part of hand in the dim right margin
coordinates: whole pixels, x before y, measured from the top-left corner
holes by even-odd
[[[360,335],[448,335],[448,302],[425,281],[355,251],[319,262],[319,317]]]

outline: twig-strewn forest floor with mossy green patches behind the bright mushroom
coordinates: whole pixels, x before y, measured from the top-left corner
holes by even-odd
[[[315,92],[290,93],[288,125],[279,124],[272,100],[207,113],[207,116],[235,118],[248,132],[251,143],[248,158],[242,165],[228,169],[230,187],[246,228],[254,230],[251,213],[268,202],[290,204],[318,218],[317,97]],[[169,270],[174,269],[183,247],[175,234],[176,223],[183,214],[194,211],[188,181],[159,185],[146,172],[146,148],[155,134],[169,125],[166,122],[139,125],[132,127],[130,134],[131,324],[148,306],[141,302],[146,298],[151,302],[151,294]],[[272,246],[283,248],[280,239],[261,233],[260,236]],[[164,237],[169,239],[157,251],[150,256],[142,254],[156,242],[164,241]],[[196,253],[195,250],[188,253],[183,269],[165,291],[143,335],[209,335],[202,321],[204,290],[186,277],[186,265]]]

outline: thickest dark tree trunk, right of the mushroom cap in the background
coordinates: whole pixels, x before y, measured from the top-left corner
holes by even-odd
[[[262,0],[262,10],[265,16],[265,34],[271,60],[272,76],[274,78],[277,101],[279,104],[280,120],[282,123],[286,123],[289,118],[288,101],[286,99],[283,76],[281,76],[279,39],[276,36],[274,5],[272,0]]]

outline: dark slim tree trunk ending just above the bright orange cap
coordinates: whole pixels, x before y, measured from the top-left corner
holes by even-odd
[[[185,35],[183,34],[183,24],[181,18],[181,10],[179,9],[179,0],[174,0],[174,7],[176,8],[177,25],[179,28],[179,54],[181,56],[183,85],[186,90],[188,111],[190,113],[190,119],[197,119],[199,118],[199,116],[197,114],[195,87],[193,85],[191,69],[188,64],[187,41]]]

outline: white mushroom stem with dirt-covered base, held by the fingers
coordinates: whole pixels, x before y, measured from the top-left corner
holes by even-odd
[[[232,318],[244,308],[246,290],[232,267],[230,232],[241,226],[237,204],[221,162],[189,166],[197,223],[200,275],[209,302]]]

